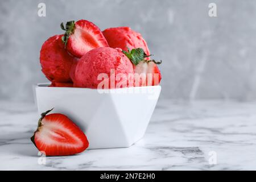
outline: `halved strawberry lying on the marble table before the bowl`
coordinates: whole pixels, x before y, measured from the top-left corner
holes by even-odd
[[[39,151],[47,156],[73,155],[84,151],[89,142],[85,134],[64,114],[41,114],[38,129],[31,137]],[[48,114],[48,115],[46,115]]]

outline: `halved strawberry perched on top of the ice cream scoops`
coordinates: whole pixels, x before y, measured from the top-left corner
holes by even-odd
[[[80,58],[91,49],[109,47],[100,28],[88,20],[70,21],[65,27],[61,23],[60,27],[66,31],[62,40],[73,56]]]

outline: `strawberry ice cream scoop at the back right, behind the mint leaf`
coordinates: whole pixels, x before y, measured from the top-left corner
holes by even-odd
[[[124,51],[128,51],[127,47],[142,48],[147,55],[150,55],[146,41],[141,34],[131,30],[130,27],[107,28],[102,33],[112,48],[121,48]]]

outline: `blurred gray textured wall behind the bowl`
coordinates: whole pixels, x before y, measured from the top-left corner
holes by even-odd
[[[217,18],[208,16],[210,2]],[[0,0],[0,100],[33,100],[31,85],[47,81],[40,47],[63,32],[60,22],[79,19],[141,32],[163,60],[162,99],[256,98],[256,1]]]

